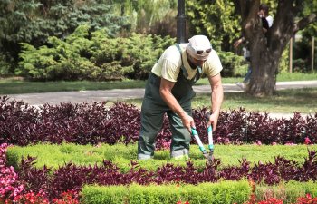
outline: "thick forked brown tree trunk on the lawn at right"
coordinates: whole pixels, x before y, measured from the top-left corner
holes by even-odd
[[[316,13],[303,15],[310,1],[278,0],[274,24],[266,34],[257,15],[260,0],[235,0],[241,15],[242,32],[249,41],[252,74],[246,92],[255,96],[274,94],[278,65],[285,46],[299,30],[316,21]],[[311,9],[315,9],[311,7]]]

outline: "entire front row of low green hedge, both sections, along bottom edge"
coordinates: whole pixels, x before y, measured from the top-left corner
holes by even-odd
[[[96,186],[82,188],[82,203],[244,203],[255,193],[255,200],[282,199],[284,204],[310,194],[317,197],[315,182],[289,181],[275,186],[256,185],[252,192],[245,180],[224,180],[198,185]]]

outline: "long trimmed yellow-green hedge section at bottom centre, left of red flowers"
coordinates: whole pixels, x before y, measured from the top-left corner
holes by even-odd
[[[124,190],[124,188],[126,188]],[[118,190],[118,194],[115,193]],[[244,203],[251,193],[247,181],[221,181],[194,185],[132,184],[118,186],[84,186],[82,203],[161,204],[188,201],[189,203]]]

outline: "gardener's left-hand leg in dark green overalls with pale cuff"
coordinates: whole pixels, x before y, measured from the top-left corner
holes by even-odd
[[[145,99],[141,108],[141,130],[139,132],[138,159],[148,160],[153,157],[157,135],[162,127],[165,111]]]

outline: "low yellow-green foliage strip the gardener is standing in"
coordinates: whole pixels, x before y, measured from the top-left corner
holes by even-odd
[[[228,165],[239,165],[239,160],[244,157],[251,162],[251,165],[259,161],[274,162],[274,156],[281,156],[287,160],[295,160],[303,163],[308,151],[317,151],[317,145],[215,145],[215,157],[220,159],[222,167]],[[37,144],[26,147],[14,146],[8,148],[7,158],[10,165],[17,167],[22,157],[27,155],[37,157],[36,167],[58,168],[65,163],[72,162],[77,165],[94,165],[96,162],[101,164],[102,160],[111,160],[123,172],[130,170],[130,160],[137,159],[137,144],[101,144],[77,145],[72,143],[56,144]],[[206,160],[199,151],[197,145],[191,145],[190,160],[197,168],[205,167]],[[172,160],[169,151],[155,151],[154,160],[138,160],[139,166],[148,170],[156,170],[158,166],[166,163],[175,165],[186,165],[186,160]]]

